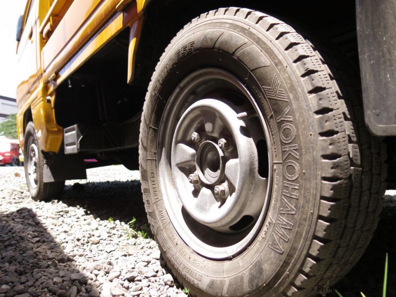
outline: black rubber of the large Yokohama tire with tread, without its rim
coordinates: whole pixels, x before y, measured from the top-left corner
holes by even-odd
[[[180,238],[158,184],[157,139],[169,124],[167,99],[202,67],[245,82],[270,123],[280,160],[260,234],[246,251],[222,261],[200,256]],[[289,25],[242,8],[202,14],[166,48],[143,108],[140,172],[152,233],[191,294],[315,296],[317,285],[334,284],[362,255],[382,209],[386,151],[368,133],[359,93],[343,67]],[[281,135],[285,124],[292,141]]]

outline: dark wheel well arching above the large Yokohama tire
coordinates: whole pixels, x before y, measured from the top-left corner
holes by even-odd
[[[184,25],[201,13],[230,6],[259,10],[310,35],[330,39],[358,62],[354,1],[329,1],[319,7],[315,0],[151,0],[145,11],[133,83],[148,86],[161,54]]]

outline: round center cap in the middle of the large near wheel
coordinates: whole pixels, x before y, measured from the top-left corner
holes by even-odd
[[[218,184],[224,175],[224,153],[211,141],[200,144],[196,155],[197,173],[207,185]]]

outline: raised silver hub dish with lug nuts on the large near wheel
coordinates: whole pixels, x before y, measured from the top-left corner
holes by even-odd
[[[217,99],[199,100],[180,118],[172,173],[183,207],[198,222],[233,233],[241,231],[233,226],[244,216],[250,223],[257,219],[265,195],[255,194],[266,193],[267,184],[257,174],[253,133],[230,105]]]

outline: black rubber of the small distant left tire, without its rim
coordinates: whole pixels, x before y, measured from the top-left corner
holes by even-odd
[[[36,144],[38,151],[39,151],[39,156],[38,156],[39,157],[39,162],[38,162],[39,165],[38,165],[38,170],[37,170],[38,183],[37,183],[36,188],[33,187],[33,185],[31,184],[31,182],[28,178],[28,164],[29,164],[28,152],[29,152],[30,145],[32,143]],[[30,193],[32,199],[36,200],[36,201],[49,201],[51,199],[60,198],[63,194],[65,181],[58,181],[58,182],[52,182],[52,183],[45,183],[43,181],[43,168],[44,168],[45,159],[44,159],[43,153],[40,150],[39,142],[37,141],[37,136],[36,136],[33,122],[29,122],[26,126],[24,143],[23,143],[23,151],[25,152],[25,158],[26,158],[26,162],[24,162],[26,183],[28,185],[29,193]]]

